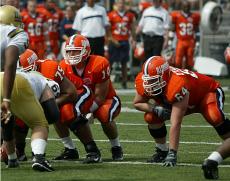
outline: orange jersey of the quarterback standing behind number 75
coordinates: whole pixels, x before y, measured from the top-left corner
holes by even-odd
[[[96,84],[103,83],[109,79],[109,92],[106,95],[106,99],[113,98],[113,96],[116,95],[110,80],[110,65],[106,58],[91,55],[82,76],[77,75],[77,72],[73,70],[72,66],[66,64],[64,60],[60,62],[60,66],[64,70],[65,76],[73,82],[75,86],[79,84],[79,79],[81,79],[83,81],[82,83],[87,85],[93,92]]]

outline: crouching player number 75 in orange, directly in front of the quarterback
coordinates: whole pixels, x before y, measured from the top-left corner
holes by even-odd
[[[89,125],[87,124],[88,120],[82,116],[82,114],[86,114],[84,112],[85,109],[88,110],[93,102],[93,96],[89,88],[81,84],[82,81],[79,79],[77,83],[78,89],[76,90],[72,82],[65,77],[64,71],[56,61],[48,59],[38,60],[38,57],[32,50],[27,49],[20,56],[20,64],[25,71],[36,70],[45,77],[57,82],[59,86],[55,84],[51,86],[53,92],[59,90],[60,87],[59,95],[56,94],[56,102],[60,108],[61,121],[55,123],[55,128],[58,135],[62,138],[65,150],[56,159],[70,160],[79,158],[78,152],[69,137],[68,127],[84,144],[88,155],[95,155],[97,152],[100,154],[93,141]],[[88,155],[85,161],[88,160]]]

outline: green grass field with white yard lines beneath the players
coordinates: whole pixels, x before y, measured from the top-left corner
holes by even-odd
[[[229,79],[220,79],[229,86]],[[133,87],[131,83],[128,85]],[[116,84],[119,88],[120,85]],[[230,91],[225,91],[225,112],[230,117]],[[134,111],[132,99],[134,94],[121,95],[123,111],[116,119],[124,151],[124,161],[112,162],[110,143],[102,132],[98,121],[91,125],[94,138],[101,150],[103,163],[85,165],[82,144],[72,135],[80,153],[79,161],[54,162],[52,158],[63,149],[53,127],[50,127],[46,155],[55,172],[40,173],[31,169],[30,141],[27,140],[26,153],[28,162],[22,162],[20,168],[6,169],[1,163],[2,181],[82,181],[82,180],[157,180],[157,181],[199,181],[205,180],[201,170],[203,160],[221,143],[215,130],[199,114],[185,117],[183,120],[178,165],[164,168],[161,165],[147,164],[146,160],[153,154],[155,143],[150,137],[143,113]],[[129,108],[129,109],[128,109]],[[167,122],[169,128],[169,122]],[[220,180],[230,180],[230,159],[226,159],[219,168]]]

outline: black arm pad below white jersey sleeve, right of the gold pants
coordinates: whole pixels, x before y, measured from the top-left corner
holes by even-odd
[[[53,124],[60,119],[60,112],[55,99],[49,99],[41,103],[46,119],[49,124]]]

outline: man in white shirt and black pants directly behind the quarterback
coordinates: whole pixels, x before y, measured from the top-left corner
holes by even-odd
[[[109,34],[109,22],[104,7],[87,0],[74,19],[73,29],[87,37],[91,54],[104,56],[105,35]]]

